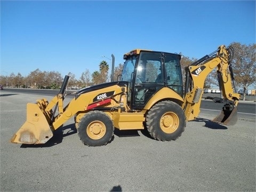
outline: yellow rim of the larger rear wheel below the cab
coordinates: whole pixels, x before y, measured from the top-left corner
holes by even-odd
[[[165,113],[160,119],[160,127],[165,133],[173,133],[179,127],[179,117],[173,112]]]

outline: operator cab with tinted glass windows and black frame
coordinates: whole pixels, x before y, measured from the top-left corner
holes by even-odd
[[[179,54],[139,49],[124,54],[121,81],[129,82],[127,102],[131,109],[143,109],[163,87],[183,97],[180,58]]]

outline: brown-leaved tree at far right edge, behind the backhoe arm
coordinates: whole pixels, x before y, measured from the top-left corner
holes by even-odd
[[[229,46],[234,49],[232,65],[235,81],[238,86],[243,87],[245,100],[245,91],[256,81],[256,44],[243,45],[233,42]]]

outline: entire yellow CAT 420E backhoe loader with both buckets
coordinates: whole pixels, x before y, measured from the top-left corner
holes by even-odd
[[[11,142],[45,143],[70,118],[74,118],[79,138],[87,146],[106,145],[114,129],[146,129],[156,140],[176,140],[187,121],[198,117],[206,76],[215,68],[220,97],[206,99],[224,104],[214,122],[233,125],[240,97],[231,67],[233,53],[232,47],[221,45],[186,67],[183,89],[180,54],[135,49],[124,54],[119,81],[78,90],[64,107],[69,80],[65,76],[60,92],[51,101],[27,103],[27,121]]]

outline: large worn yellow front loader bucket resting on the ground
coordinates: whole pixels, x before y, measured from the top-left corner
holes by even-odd
[[[50,120],[37,103],[27,103],[27,121],[20,127],[11,139],[13,143],[43,144],[52,138]]]

